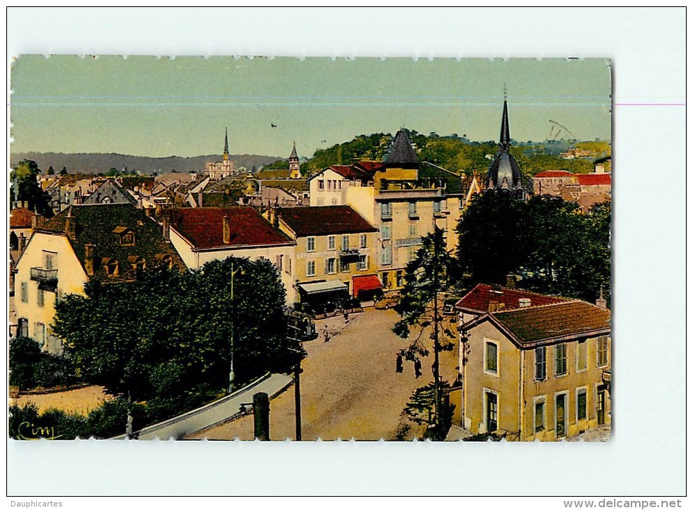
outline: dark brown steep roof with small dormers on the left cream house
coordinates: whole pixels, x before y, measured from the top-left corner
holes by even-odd
[[[142,257],[145,267],[153,268],[164,262],[163,256],[170,256],[174,265],[185,268],[176,249],[164,241],[161,226],[144,210],[131,205],[75,205],[46,221],[39,231],[65,233],[66,217],[70,211],[76,221],[76,239],[71,239],[70,244],[85,268],[85,245],[95,245],[94,278],[108,282],[133,279],[136,271],[131,265],[131,260],[134,260],[131,257]],[[134,245],[123,246],[122,235],[128,232],[134,233]],[[111,258],[118,261],[116,277],[107,276],[103,266]]]

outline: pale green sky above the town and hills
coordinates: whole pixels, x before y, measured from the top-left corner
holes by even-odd
[[[610,140],[606,59],[19,57],[12,152],[299,156],[359,134],[457,133],[545,140],[550,121]],[[276,126],[276,127],[274,127]]]

